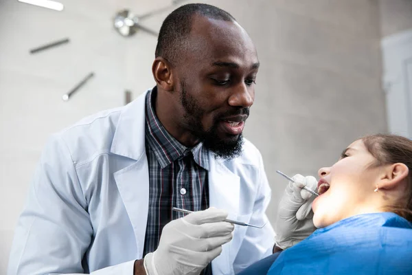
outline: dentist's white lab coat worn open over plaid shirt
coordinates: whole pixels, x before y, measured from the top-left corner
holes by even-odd
[[[148,218],[145,94],[85,118],[47,142],[14,235],[8,274],[133,275]],[[271,198],[262,157],[245,140],[240,157],[209,155],[210,206],[254,225]],[[234,274],[271,254],[274,232],[235,226],[212,262]]]

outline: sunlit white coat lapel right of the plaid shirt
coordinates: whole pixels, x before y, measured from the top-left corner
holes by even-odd
[[[228,219],[236,219],[239,211],[240,178],[211,153],[209,163],[209,204],[211,207],[227,210]],[[230,248],[231,243],[223,245],[220,256],[212,261],[213,274],[233,273]]]

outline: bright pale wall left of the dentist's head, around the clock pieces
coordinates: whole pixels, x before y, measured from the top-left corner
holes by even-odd
[[[122,105],[124,89],[137,96],[153,85],[156,38],[141,33],[125,39],[111,25],[115,12],[128,6],[126,1],[62,3],[65,10],[55,12],[0,0],[0,274],[5,273],[16,219],[49,134],[85,115]],[[166,3],[137,6],[147,12]],[[65,37],[71,39],[67,45],[29,54],[33,47]],[[62,95],[92,71],[95,76],[87,85],[63,102]]]

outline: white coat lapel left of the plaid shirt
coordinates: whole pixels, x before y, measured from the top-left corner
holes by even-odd
[[[113,137],[111,153],[132,160],[129,166],[114,173],[117,189],[133,226],[137,243],[137,257],[141,259],[148,220],[149,170],[145,147],[146,93],[128,104]]]

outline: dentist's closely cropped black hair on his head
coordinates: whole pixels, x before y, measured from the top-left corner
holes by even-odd
[[[209,19],[222,21],[236,21],[234,17],[214,5],[191,3],[182,5],[166,17],[161,25],[155,57],[161,56],[171,63],[175,63],[182,50],[187,49],[187,37],[192,30],[194,14]]]

